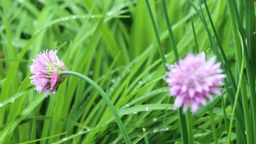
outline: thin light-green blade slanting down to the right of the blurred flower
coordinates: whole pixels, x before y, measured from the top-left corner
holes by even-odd
[[[235,102],[234,102],[234,106],[233,106],[233,110],[232,110],[232,115],[231,115],[231,119],[230,119],[229,134],[228,134],[228,144],[231,141],[230,137],[231,137],[233,119],[234,119],[235,111],[236,111],[236,104],[237,104],[238,95],[239,95],[239,92],[240,92],[240,85],[241,85],[242,76],[243,76],[242,73],[243,73],[243,59],[242,59],[242,65],[241,65],[241,70],[240,70],[239,82],[238,82],[237,91],[236,91],[236,98],[235,98]]]

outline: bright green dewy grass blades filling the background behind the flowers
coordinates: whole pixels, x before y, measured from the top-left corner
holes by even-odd
[[[0,143],[125,143],[113,107],[89,83],[68,76],[48,98],[34,91],[29,66],[46,49],[59,50],[68,70],[103,89],[132,143],[184,142],[179,119],[189,115],[173,109],[162,62],[216,55],[228,76],[223,95],[187,118],[185,139],[226,143],[230,135],[234,143],[255,143],[256,3],[164,2],[2,0]]]

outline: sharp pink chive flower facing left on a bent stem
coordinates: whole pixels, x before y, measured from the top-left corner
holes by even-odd
[[[56,53],[56,50],[39,53],[36,59],[32,59],[33,64],[30,66],[30,71],[34,74],[30,77],[31,83],[36,85],[34,90],[38,93],[44,91],[45,97],[54,94],[60,83],[65,80],[66,75],[59,75],[59,71],[68,70]]]

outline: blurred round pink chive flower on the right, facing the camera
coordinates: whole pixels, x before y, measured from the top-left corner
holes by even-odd
[[[194,114],[202,105],[206,105],[206,99],[212,99],[212,94],[221,95],[219,86],[223,86],[220,62],[214,63],[216,57],[209,61],[205,59],[205,53],[199,55],[188,54],[184,59],[174,64],[167,64],[168,71],[166,82],[171,87],[169,96],[175,96],[174,108],[183,106],[183,113],[190,108]]]

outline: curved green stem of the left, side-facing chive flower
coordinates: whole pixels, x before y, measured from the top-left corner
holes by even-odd
[[[110,111],[113,113],[113,116],[115,118],[115,121],[117,122],[118,124],[118,127],[121,131],[121,133],[123,134],[123,137],[124,137],[124,140],[125,140],[125,143],[130,143],[130,138],[127,134],[127,131],[124,127],[124,124],[123,122],[121,121],[121,118],[119,117],[118,115],[118,112],[117,110],[115,110],[115,107],[112,103],[112,101],[109,99],[108,95],[102,90],[102,88],[100,86],[97,85],[97,83],[95,83],[94,81],[92,81],[89,77],[85,76],[85,75],[82,75],[82,74],[79,74],[77,72],[74,72],[74,71],[61,71],[59,73],[59,75],[74,75],[74,76],[77,76],[83,80],[85,80],[86,82],[88,82],[91,86],[93,86],[96,91],[98,93],[100,93],[101,97],[104,99],[104,101],[107,103]]]

